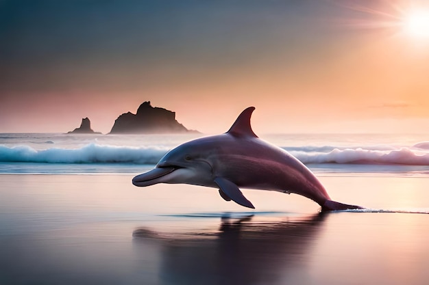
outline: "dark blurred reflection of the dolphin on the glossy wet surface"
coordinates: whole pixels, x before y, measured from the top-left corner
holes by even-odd
[[[306,264],[325,217],[222,218],[217,232],[189,237],[138,228],[134,245],[158,243],[160,284],[306,284]]]

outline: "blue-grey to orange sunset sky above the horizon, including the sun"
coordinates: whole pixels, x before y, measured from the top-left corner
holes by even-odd
[[[425,133],[429,0],[0,0],[0,133]]]

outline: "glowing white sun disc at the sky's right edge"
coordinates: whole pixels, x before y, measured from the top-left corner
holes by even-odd
[[[404,31],[416,38],[429,39],[429,10],[410,11],[404,15]]]

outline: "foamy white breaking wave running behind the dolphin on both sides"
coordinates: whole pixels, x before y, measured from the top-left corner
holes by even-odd
[[[422,148],[424,146],[424,148]],[[411,148],[304,146],[284,148],[305,164],[373,164],[429,165],[429,150],[424,145]],[[30,146],[0,146],[0,162],[23,163],[135,163],[155,165],[169,148],[146,146],[104,146],[88,144],[81,148],[48,148],[36,150]]]

